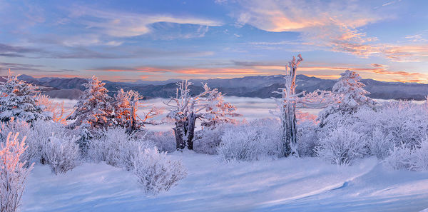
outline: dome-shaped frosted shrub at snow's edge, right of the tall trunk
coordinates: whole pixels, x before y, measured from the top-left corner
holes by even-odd
[[[334,164],[350,165],[355,159],[367,154],[366,139],[357,133],[340,126],[320,136],[320,144],[315,148],[318,156]]]

